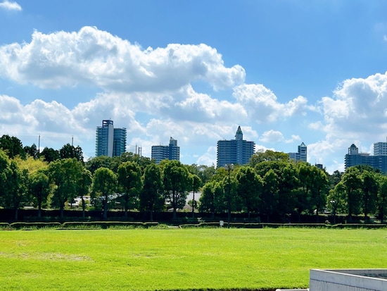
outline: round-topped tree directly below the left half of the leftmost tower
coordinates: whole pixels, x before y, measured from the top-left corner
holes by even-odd
[[[102,199],[103,219],[108,218],[108,203],[110,196],[115,193],[117,186],[117,176],[109,168],[98,168],[94,172],[92,198]]]

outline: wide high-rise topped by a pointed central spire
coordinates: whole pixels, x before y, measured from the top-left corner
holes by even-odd
[[[231,163],[246,165],[254,152],[255,142],[243,140],[243,132],[239,126],[236,130],[235,140],[218,140],[217,168]]]

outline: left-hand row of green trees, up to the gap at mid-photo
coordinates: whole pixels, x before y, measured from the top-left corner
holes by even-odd
[[[122,158],[133,157],[139,159],[133,155]],[[99,160],[104,161],[106,157]],[[176,218],[177,208],[185,205],[188,191],[198,190],[197,181],[200,178],[189,173],[179,161],[163,161],[160,165],[149,162],[145,168],[136,161],[122,161],[116,171],[101,166],[91,172],[75,158],[51,163],[32,157],[9,159],[6,152],[0,150],[0,206],[14,209],[15,220],[18,209],[25,205],[36,206],[39,217],[42,206],[60,209],[63,219],[65,206],[76,197],[80,197],[84,212],[85,197],[89,196],[96,209],[103,209],[105,219],[109,207],[120,203],[125,217],[132,209],[147,211],[152,220],[153,211],[164,210],[165,202],[172,206],[173,218]]]

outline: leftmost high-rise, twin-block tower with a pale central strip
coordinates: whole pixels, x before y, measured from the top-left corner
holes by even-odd
[[[114,128],[113,120],[102,120],[96,128],[96,156],[120,156],[127,144],[126,128]]]

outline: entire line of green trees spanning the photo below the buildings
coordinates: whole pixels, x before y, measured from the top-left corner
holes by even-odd
[[[83,216],[92,207],[106,219],[120,204],[125,218],[128,211],[142,211],[152,221],[155,211],[167,208],[176,218],[189,192],[201,192],[189,201],[192,216],[200,211],[214,218],[246,213],[269,222],[274,216],[286,221],[289,214],[307,214],[318,221],[321,213],[331,213],[334,222],[338,214],[348,221],[364,214],[383,222],[387,209],[387,177],[367,166],[329,175],[277,151],[257,152],[247,165],[228,169],[168,160],[156,164],[133,153],[84,162],[82,149],[70,144],[39,153],[35,144],[23,147],[16,137],[0,138],[0,207],[14,209],[15,221],[22,206],[36,207],[39,218],[42,208],[59,209],[63,220],[64,209],[77,197]]]

